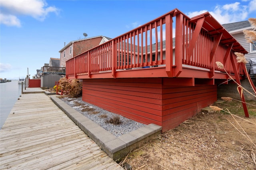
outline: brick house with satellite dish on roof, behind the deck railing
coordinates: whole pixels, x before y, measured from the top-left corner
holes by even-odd
[[[109,41],[111,38],[104,37],[102,35],[96,37],[90,37],[85,39],[79,39],[76,41],[70,41],[67,45],[64,43],[64,47],[59,51],[60,53],[60,67],[66,66],[66,61],[91,49],[102,43]]]

